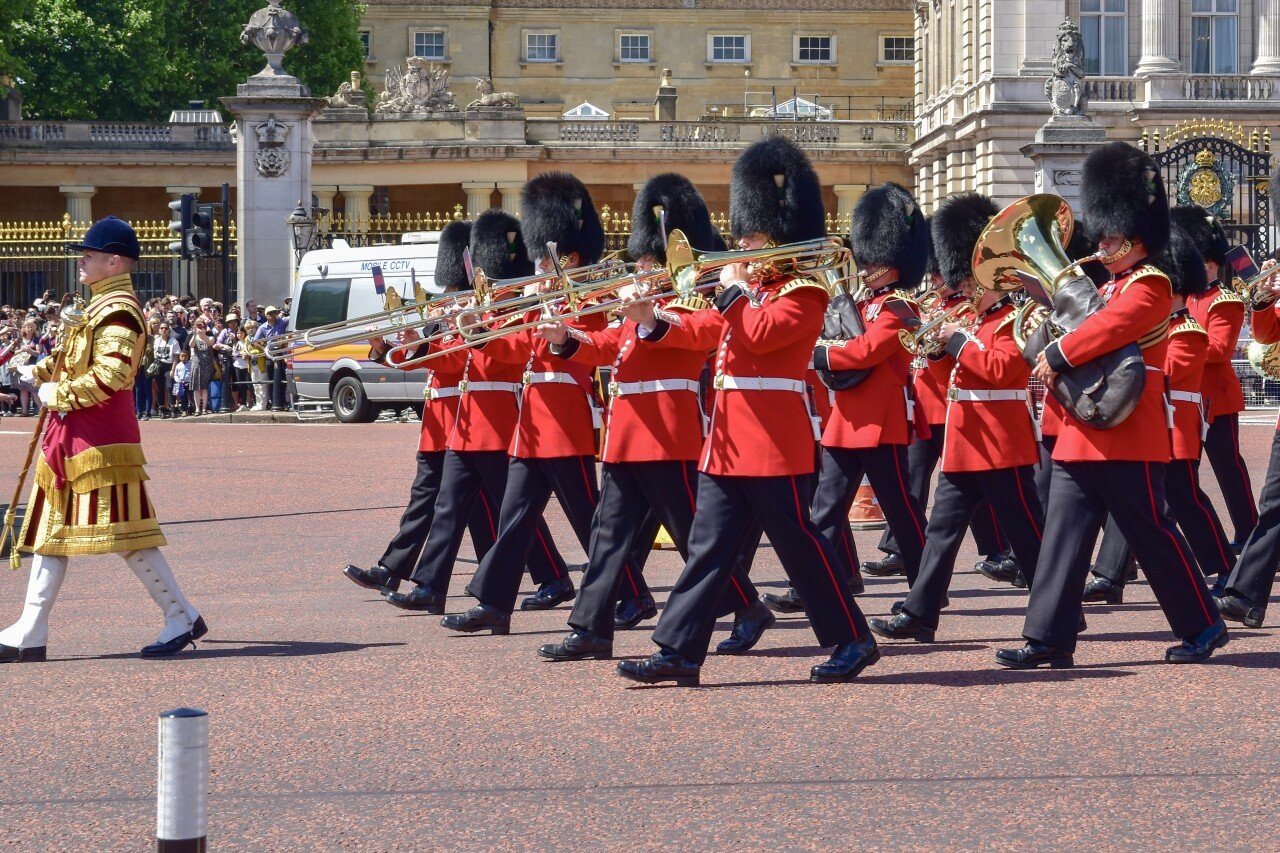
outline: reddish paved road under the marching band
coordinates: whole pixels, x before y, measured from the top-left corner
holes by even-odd
[[[0,482],[31,423],[0,424]],[[1261,484],[1271,428],[1243,434]],[[997,671],[1024,594],[965,573],[940,642],[887,644],[855,684],[809,684],[820,651],[786,619],[753,654],[712,657],[701,689],[628,689],[609,662],[534,656],[564,610],[458,637],[338,575],[390,535],[415,426],[143,437],[169,558],[211,634],[182,660],[136,658],[154,605],[116,557],[73,564],[56,660],[0,669],[0,847],[143,849],[155,717],[191,704],[210,712],[219,849],[1280,848],[1270,628],[1234,631],[1212,665],[1166,666],[1138,585],[1089,610],[1075,670]],[[864,553],[876,535],[858,535]],[[678,561],[650,566],[662,598]],[[771,551],[754,574],[782,585]],[[0,624],[24,583],[0,573]],[[872,580],[861,603],[884,613],[902,588]],[[643,630],[617,643],[652,648]]]

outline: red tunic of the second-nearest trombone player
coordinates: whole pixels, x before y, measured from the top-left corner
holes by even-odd
[[[707,350],[636,346],[636,324],[625,320],[602,332],[576,332],[563,357],[577,364],[613,366],[603,462],[694,461],[703,448],[703,412],[698,378]],[[636,388],[646,382],[685,383],[686,388]]]

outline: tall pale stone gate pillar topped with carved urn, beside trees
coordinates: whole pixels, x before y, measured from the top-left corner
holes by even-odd
[[[266,67],[221,99],[236,117],[237,301],[279,305],[289,295],[297,259],[289,214],[311,201],[311,119],[328,102],[288,74],[284,53],[306,44],[298,19],[276,0],[244,32]]]

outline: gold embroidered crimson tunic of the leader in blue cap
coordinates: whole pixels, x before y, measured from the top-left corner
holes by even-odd
[[[147,497],[133,379],[146,343],[128,274],[91,286],[87,324],[36,365],[54,383],[19,549],[50,556],[124,553],[165,544]],[[59,355],[65,359],[58,364]]]

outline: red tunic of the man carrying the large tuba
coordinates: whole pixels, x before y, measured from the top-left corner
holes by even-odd
[[[1124,421],[1094,429],[1064,416],[1053,460],[1059,462],[1167,462],[1169,420],[1165,410],[1165,328],[1172,305],[1169,278],[1155,266],[1140,265],[1102,289],[1106,305],[1065,334],[1060,348],[1069,364],[1085,364],[1125,343],[1147,343],[1142,350],[1147,380],[1142,398]]]

